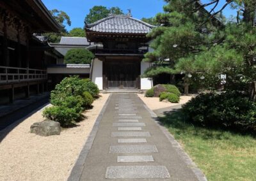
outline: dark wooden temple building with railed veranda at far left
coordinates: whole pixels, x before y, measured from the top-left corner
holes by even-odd
[[[46,66],[63,55],[35,33],[62,28],[40,0],[0,1],[0,104],[45,91]]]

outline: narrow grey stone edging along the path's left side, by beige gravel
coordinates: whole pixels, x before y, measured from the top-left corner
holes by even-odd
[[[86,157],[88,153],[90,152],[90,149],[92,148],[93,141],[96,137],[96,134],[99,129],[100,121],[102,120],[102,116],[106,111],[106,108],[108,106],[108,103],[110,101],[112,94],[109,95],[108,100],[106,101],[105,105],[103,106],[102,110],[99,113],[99,116],[97,117],[95,124],[93,125],[92,131],[90,135],[88,136],[88,139],[86,140],[86,143],[83,146],[83,149],[81,150],[79,157],[76,160],[76,164],[72,168],[72,171],[68,177],[68,181],[79,181],[83,170],[84,170],[84,163],[86,161]]]

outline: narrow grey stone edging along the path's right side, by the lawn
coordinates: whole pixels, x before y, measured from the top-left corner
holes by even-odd
[[[140,98],[140,97],[139,97]],[[142,101],[142,100],[141,100]],[[143,101],[142,101],[143,102]],[[150,108],[148,108],[147,105],[143,102],[144,107],[146,110],[150,113],[151,117],[153,118],[154,122],[157,124],[157,126],[160,127],[160,129],[163,131],[164,135],[168,138],[170,143],[172,143],[173,147],[181,157],[181,159],[184,161],[184,163],[187,164],[188,168],[191,168],[191,170],[195,173],[196,178],[199,181],[207,181],[207,178],[205,177],[204,173],[196,166],[196,164],[192,161],[192,159],[188,156],[188,154],[183,150],[183,148],[180,146],[179,142],[175,140],[174,136],[168,131],[168,129],[164,126],[161,126],[159,124],[158,117],[156,113],[154,113]]]

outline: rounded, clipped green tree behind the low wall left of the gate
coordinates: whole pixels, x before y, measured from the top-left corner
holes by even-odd
[[[71,49],[65,55],[65,64],[91,64],[94,54],[87,49]]]

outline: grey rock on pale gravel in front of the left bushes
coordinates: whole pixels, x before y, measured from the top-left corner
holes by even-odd
[[[30,126],[31,133],[40,136],[60,135],[61,127],[60,122],[53,120],[44,120],[42,122],[35,122]]]

